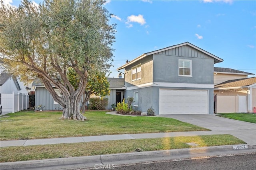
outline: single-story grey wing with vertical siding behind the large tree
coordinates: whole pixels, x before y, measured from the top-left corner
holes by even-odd
[[[112,109],[112,104],[116,104],[118,102],[121,102],[124,95],[124,78],[107,78],[110,84],[110,95],[106,96],[108,98],[108,106],[106,109]],[[42,105],[44,107],[44,110],[58,110],[62,109],[60,104],[56,103],[54,99],[52,98],[52,95],[46,90],[44,87],[44,84],[39,80],[36,79],[32,83],[32,86],[35,89],[35,106]],[[57,94],[61,95],[60,90],[56,88]],[[92,98],[95,98],[96,96],[92,95]],[[35,108],[38,110],[38,108]]]

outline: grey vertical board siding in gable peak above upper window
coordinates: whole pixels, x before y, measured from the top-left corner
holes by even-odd
[[[182,57],[196,57],[196,58],[203,58],[203,59],[211,59],[212,58],[209,55],[190,47],[189,45],[182,45],[180,47],[176,47],[173,49],[161,51],[157,54],[182,56]]]

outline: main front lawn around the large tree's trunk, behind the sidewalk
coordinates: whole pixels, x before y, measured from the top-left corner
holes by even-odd
[[[86,121],[59,119],[62,112],[20,111],[0,118],[0,139],[42,139],[94,135],[207,131],[208,129],[166,117],[130,117],[90,111]]]

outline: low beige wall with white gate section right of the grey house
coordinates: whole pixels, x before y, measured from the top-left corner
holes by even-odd
[[[246,113],[247,96],[217,96],[217,113]]]

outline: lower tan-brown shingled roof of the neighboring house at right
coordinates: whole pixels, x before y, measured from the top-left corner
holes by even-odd
[[[236,89],[236,88],[248,88],[256,85],[256,77],[240,78],[235,80],[228,80],[214,86],[214,90],[217,89]]]

